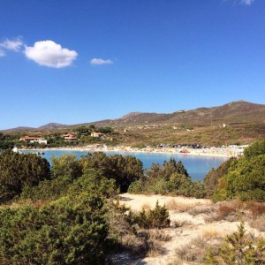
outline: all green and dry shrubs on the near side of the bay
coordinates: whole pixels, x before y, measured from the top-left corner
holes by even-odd
[[[264,140],[246,148],[241,158],[208,172],[203,182],[193,182],[183,164],[173,159],[145,171],[130,155],[99,152],[51,161],[50,167],[38,155],[11,150],[0,155],[1,264],[104,264],[120,252],[140,258],[162,255],[169,231],[189,225],[171,222],[170,213],[178,210],[191,218],[205,216],[206,224],[244,221],[265,230]],[[180,210],[178,203],[167,208],[157,201],[155,208],[146,204],[135,212],[119,200],[118,194],[126,192],[219,202]],[[200,244],[189,243],[187,252],[178,248],[176,259],[202,264],[262,264],[265,259],[264,239],[251,238],[245,223],[223,241],[216,239],[219,233],[213,228],[201,237]],[[215,239],[217,245],[212,244]],[[210,248],[205,250],[203,242]]]

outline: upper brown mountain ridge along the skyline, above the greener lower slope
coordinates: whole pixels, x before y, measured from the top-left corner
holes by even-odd
[[[230,102],[223,106],[198,108],[195,110],[178,110],[173,113],[145,113],[130,112],[117,119],[106,119],[79,125],[96,126],[130,126],[148,124],[183,124],[183,125],[211,125],[211,124],[247,124],[265,123],[265,105],[251,102]],[[50,123],[39,128],[18,127],[5,131],[22,130],[57,130],[67,129],[79,125],[61,125]]]

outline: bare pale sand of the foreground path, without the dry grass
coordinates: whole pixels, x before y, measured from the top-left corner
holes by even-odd
[[[121,203],[125,206],[132,208],[133,211],[140,211],[142,208],[154,208],[156,201],[160,205],[165,204],[170,209],[170,222],[173,223],[177,221],[178,223],[186,222],[178,228],[170,227],[165,231],[170,234],[170,241],[163,242],[163,247],[166,252],[163,255],[155,257],[147,257],[145,259],[139,259],[136,261],[123,261],[120,264],[149,264],[149,265],[167,265],[170,261],[175,261],[176,263],[176,253],[175,250],[179,247],[186,246],[193,239],[198,237],[206,238],[214,235],[218,239],[223,239],[227,234],[231,234],[238,230],[239,222],[228,222],[228,221],[215,221],[212,223],[207,223],[205,221],[205,214],[199,214],[193,216],[188,213],[192,208],[208,208],[213,207],[213,204],[209,200],[205,199],[193,199],[185,197],[170,197],[162,195],[135,195],[125,193],[120,195]],[[247,223],[245,223],[246,231],[251,232],[255,236],[261,235],[259,231],[251,228]],[[263,235],[262,235],[263,236]],[[179,263],[179,264],[195,264],[195,263]]]

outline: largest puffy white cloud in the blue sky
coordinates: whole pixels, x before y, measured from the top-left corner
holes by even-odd
[[[53,68],[69,66],[78,57],[75,50],[62,48],[52,41],[35,42],[33,47],[26,46],[24,53],[35,63]]]

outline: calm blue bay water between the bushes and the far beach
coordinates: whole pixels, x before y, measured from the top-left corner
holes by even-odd
[[[34,151],[23,151],[23,153],[31,153]],[[44,151],[45,157],[49,163],[52,155],[60,156],[64,154],[72,154],[76,155],[80,158],[81,155],[87,155],[87,151],[73,151],[73,150],[49,150]],[[213,156],[200,156],[200,155],[181,155],[181,154],[144,154],[144,153],[128,153],[128,152],[106,152],[107,155],[133,155],[136,158],[140,159],[143,163],[143,168],[147,169],[151,166],[152,163],[163,164],[164,161],[169,161],[170,157],[173,157],[177,162],[181,160],[181,162],[186,167],[189,175],[193,178],[193,180],[202,180],[204,176],[208,173],[212,168],[217,168],[221,163],[227,160],[226,157],[213,157]]]

